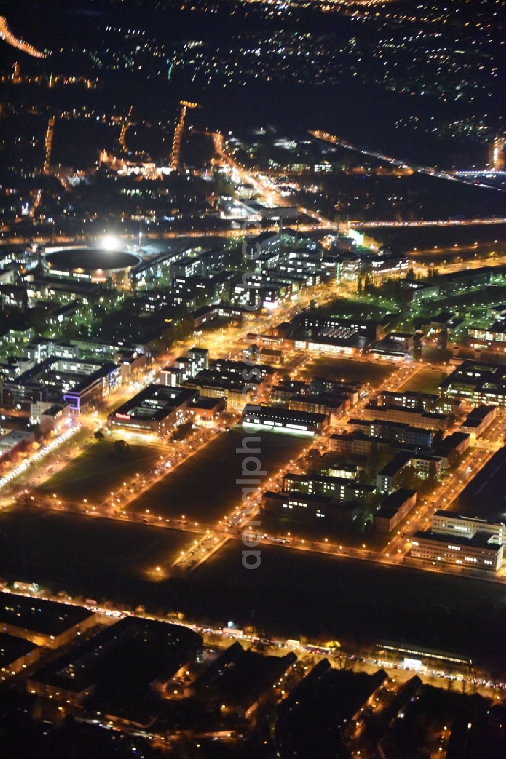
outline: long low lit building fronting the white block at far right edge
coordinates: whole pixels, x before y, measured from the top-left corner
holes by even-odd
[[[416,532],[411,539],[410,556],[434,563],[454,564],[465,569],[498,572],[502,566],[503,546],[492,542],[489,534],[476,532],[473,537]]]

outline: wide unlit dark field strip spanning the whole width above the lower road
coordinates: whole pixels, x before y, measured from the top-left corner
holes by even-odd
[[[253,623],[269,634],[372,645],[395,640],[477,656],[504,667],[506,588],[442,573],[262,546],[255,570],[239,540],[193,575],[154,581],[156,565],[196,535],[93,517],[0,515],[0,576],[146,609],[182,611],[222,625]],[[165,562],[165,563],[164,563]],[[502,663],[502,664],[501,664]]]

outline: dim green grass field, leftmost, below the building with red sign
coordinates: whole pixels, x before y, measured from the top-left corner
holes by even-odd
[[[56,493],[62,500],[99,502],[126,477],[152,468],[163,452],[162,446],[132,444],[126,452],[117,453],[113,441],[97,440],[38,490],[44,496]]]

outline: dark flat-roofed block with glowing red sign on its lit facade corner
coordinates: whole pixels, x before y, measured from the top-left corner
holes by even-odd
[[[149,385],[108,415],[109,430],[168,436],[189,417],[194,390]]]

